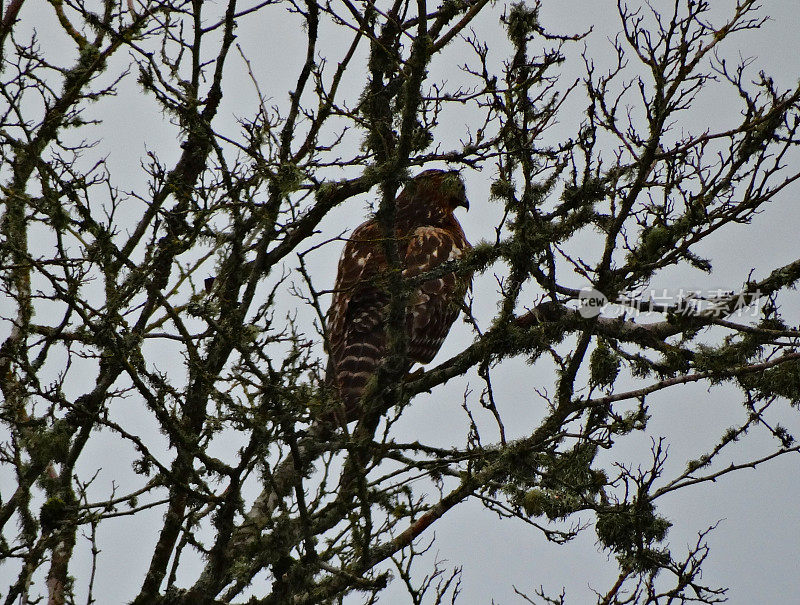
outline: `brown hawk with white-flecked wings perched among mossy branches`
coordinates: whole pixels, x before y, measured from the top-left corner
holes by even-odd
[[[431,271],[463,257],[471,248],[453,211],[469,209],[464,182],[457,172],[426,170],[397,196],[395,234],[403,277]],[[389,269],[384,229],[376,219],[353,231],[341,259],[326,316],[326,382],[343,404],[341,421],[358,417],[358,402],[369,379],[387,355],[387,317],[391,296],[379,284]],[[445,273],[419,284],[406,307],[408,363],[430,362],[458,317],[472,284],[472,273]]]

